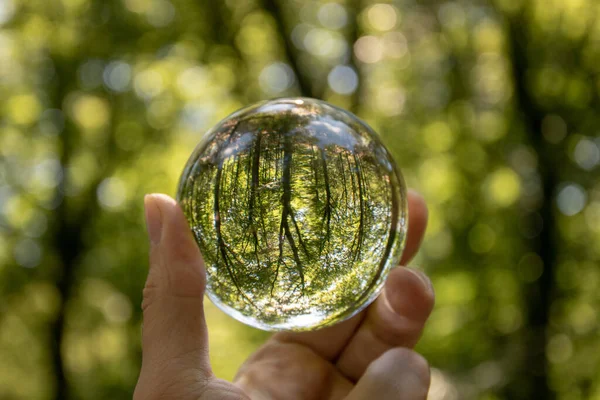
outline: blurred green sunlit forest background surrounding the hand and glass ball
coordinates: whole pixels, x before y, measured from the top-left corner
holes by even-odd
[[[429,203],[430,399],[600,399],[597,0],[0,0],[0,399],[131,398],[143,195],[292,95]],[[230,379],[267,335],[207,307]]]

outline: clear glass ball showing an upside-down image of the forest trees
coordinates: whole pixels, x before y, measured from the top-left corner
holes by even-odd
[[[263,330],[314,330],[379,294],[407,228],[390,153],[353,114],[307,98],[263,101],[208,131],[177,199],[211,301]]]

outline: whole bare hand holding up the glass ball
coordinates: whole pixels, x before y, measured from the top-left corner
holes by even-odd
[[[411,350],[434,303],[423,273],[395,268],[378,299],[338,325],[273,335],[230,383],[210,367],[206,273],[185,216],[166,195],[146,196],[145,208],[150,269],[134,400],[426,399],[429,366]],[[418,250],[426,222],[423,199],[409,192],[402,265]]]

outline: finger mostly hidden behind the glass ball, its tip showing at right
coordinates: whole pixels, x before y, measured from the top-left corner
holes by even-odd
[[[402,265],[417,253],[427,226],[425,200],[413,190],[408,191],[408,215],[408,234]],[[323,358],[333,360],[346,346],[363,317],[364,312],[332,327],[314,332],[282,332],[274,335],[273,339],[307,346]]]

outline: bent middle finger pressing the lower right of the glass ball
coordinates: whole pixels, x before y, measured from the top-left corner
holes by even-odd
[[[373,360],[394,347],[413,347],[434,304],[433,288],[422,273],[394,269],[383,293],[368,309],[337,361],[340,372],[357,381]]]

